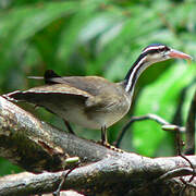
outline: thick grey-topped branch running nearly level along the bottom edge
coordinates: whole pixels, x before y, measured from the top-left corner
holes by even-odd
[[[188,159],[196,167],[196,157],[188,156]],[[182,171],[171,172],[177,168],[182,168]],[[170,172],[168,176],[162,175],[168,172]],[[158,186],[163,185],[167,188],[166,192],[169,192],[170,187],[167,187],[164,180],[191,173],[188,163],[181,157],[150,159],[124,152],[73,170],[66,177],[63,189],[73,188],[85,195],[102,192],[108,195],[120,195],[120,193],[123,195],[130,189],[138,188],[143,192],[145,189],[146,193],[151,188],[156,191]],[[37,175],[27,173],[21,177],[17,176],[17,181],[15,181],[16,177],[13,180],[4,177],[0,180],[0,195],[50,193],[57,189],[61,175],[62,172],[47,172]],[[156,179],[158,179],[157,182]],[[182,187],[183,184],[181,184]],[[149,195],[149,193],[145,195]]]

